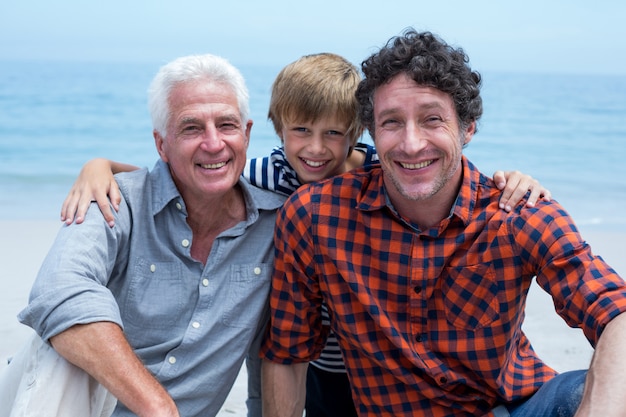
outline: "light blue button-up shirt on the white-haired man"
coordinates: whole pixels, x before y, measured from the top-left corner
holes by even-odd
[[[258,356],[251,346],[268,320],[284,198],[241,179],[247,220],[217,237],[203,266],[191,257],[185,202],[167,164],[116,178],[115,227],[96,207],[83,224],[62,227],[19,319],[44,340],[75,324],[117,323],[181,415],[213,416],[249,350]],[[120,404],[113,415],[132,414]]]

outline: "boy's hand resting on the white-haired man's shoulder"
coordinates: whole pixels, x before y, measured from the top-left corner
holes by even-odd
[[[68,225],[74,221],[76,224],[82,223],[89,205],[92,201],[96,201],[105,220],[109,226],[113,227],[115,223],[110,204],[115,210],[118,210],[121,199],[120,189],[113,178],[113,174],[136,169],[138,169],[136,166],[103,158],[96,158],[87,162],[63,202],[61,221]]]

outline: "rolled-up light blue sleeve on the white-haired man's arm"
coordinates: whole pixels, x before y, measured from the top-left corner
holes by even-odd
[[[111,228],[93,206],[83,224],[61,227],[41,265],[29,304],[18,315],[42,339],[47,341],[76,324],[108,321],[122,326],[117,302],[106,285],[127,256],[126,213],[123,207]]]

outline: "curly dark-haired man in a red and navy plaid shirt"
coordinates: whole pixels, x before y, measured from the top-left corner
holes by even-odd
[[[265,416],[302,413],[322,301],[361,416],[623,415],[626,283],[557,202],[498,210],[462,153],[482,113],[467,62],[410,30],[363,63],[380,166],[300,188],[279,211]],[[524,335],[535,276],[596,347],[588,373],[557,375]]]

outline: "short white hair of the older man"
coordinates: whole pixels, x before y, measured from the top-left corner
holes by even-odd
[[[250,115],[250,103],[246,82],[237,68],[226,59],[211,55],[189,55],[177,58],[159,69],[148,88],[148,108],[152,128],[166,136],[169,123],[169,96],[172,89],[185,82],[207,80],[224,84],[237,97],[241,121],[246,124]]]

